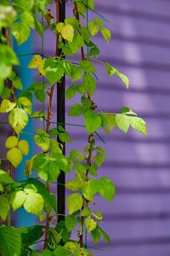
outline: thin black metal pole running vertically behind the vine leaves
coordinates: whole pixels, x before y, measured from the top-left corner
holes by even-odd
[[[65,20],[65,0],[59,1],[59,21]],[[57,122],[65,123],[65,77],[57,84]],[[65,128],[65,125],[62,125]],[[59,141],[58,138],[58,142]],[[63,154],[65,154],[65,143]],[[57,185],[58,222],[65,219],[65,172],[60,172]],[[61,215],[60,215],[61,214]]]

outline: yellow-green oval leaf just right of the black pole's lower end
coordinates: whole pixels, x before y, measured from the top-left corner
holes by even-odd
[[[82,208],[82,196],[78,193],[69,195],[66,201],[69,214]]]

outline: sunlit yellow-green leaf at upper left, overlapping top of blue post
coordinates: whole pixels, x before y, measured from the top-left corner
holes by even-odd
[[[23,44],[30,36],[30,28],[25,22],[16,21],[12,26],[12,34],[18,44]]]

